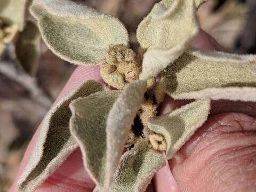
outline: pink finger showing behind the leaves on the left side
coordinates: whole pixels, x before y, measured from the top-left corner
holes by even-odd
[[[66,94],[68,94],[74,87],[76,87],[77,85],[83,83],[84,81],[86,81],[88,79],[93,79],[94,81],[103,82],[102,78],[100,76],[100,73],[99,73],[99,67],[77,67],[76,70],[74,71],[73,75],[71,75],[69,81],[67,82],[67,84],[65,85],[65,87],[63,88],[61,93],[59,94],[57,100],[54,102],[54,104],[56,102],[58,102],[58,100],[60,100]],[[25,167],[29,161],[31,151],[34,148],[34,145],[35,145],[35,142],[38,137],[40,129],[41,129],[41,125],[39,125],[37,131],[35,132],[33,138],[31,139],[31,141],[27,147],[25,155],[23,156],[22,162],[20,164],[20,168],[19,168],[17,177],[15,178],[15,181],[10,189],[11,192],[18,191],[17,190],[17,180],[20,177],[22,171],[25,169]],[[67,175],[70,174],[69,167],[73,167],[73,170],[75,170],[75,172],[72,172],[73,174],[71,175],[71,177],[74,177],[74,178],[72,178],[70,180],[68,180],[68,179],[60,180],[58,182],[58,185],[55,186],[54,190],[56,189],[57,191],[58,190],[65,191],[67,189],[66,191],[69,191],[70,186],[76,186],[77,191],[80,191],[81,187],[83,188],[83,190],[81,190],[81,191],[85,191],[86,188],[89,191],[91,191],[92,190],[91,187],[93,187],[93,186],[92,186],[91,180],[88,179],[85,171],[83,172],[84,166],[82,163],[81,153],[79,153],[78,151],[75,151],[73,154],[70,155],[70,157],[68,159],[70,159],[70,160],[67,163],[65,162],[61,166],[61,168],[59,168],[57,171],[55,171],[55,173],[52,175],[53,177],[51,177],[49,181],[52,182],[54,180],[54,178],[58,178],[58,177],[60,177],[60,175],[61,175],[61,177],[67,177]],[[63,172],[62,172],[62,170],[63,170]],[[66,175],[64,175],[64,174],[66,174]],[[50,182],[46,181],[38,190],[40,190],[40,191],[53,190],[50,188],[50,186],[51,186],[49,184]],[[87,183],[89,183],[89,186],[87,185]],[[57,183],[55,183],[55,184],[57,184]],[[65,189],[65,187],[66,187],[66,189]]]

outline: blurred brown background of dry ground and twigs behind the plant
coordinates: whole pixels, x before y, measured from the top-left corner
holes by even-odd
[[[134,50],[138,48],[135,37],[138,24],[159,2],[73,1],[118,17],[129,30]],[[198,9],[198,16],[201,27],[227,52],[256,52],[256,0],[210,0]],[[5,54],[12,52],[10,45]],[[0,60],[0,192],[10,188],[29,140],[75,69],[47,50],[43,42],[35,76],[27,75],[15,61],[6,57]]]

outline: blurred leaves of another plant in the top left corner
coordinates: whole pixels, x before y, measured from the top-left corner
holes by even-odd
[[[29,75],[35,75],[39,61],[40,34],[28,21],[31,0],[0,1],[0,58],[7,45],[15,45],[15,59]]]

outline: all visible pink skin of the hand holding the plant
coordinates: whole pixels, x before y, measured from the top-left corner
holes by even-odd
[[[193,46],[204,50],[225,51],[203,30],[194,39]],[[57,101],[73,87],[87,79],[102,82],[98,67],[78,67],[60,93]],[[165,97],[159,113],[165,114],[188,101],[174,101]],[[225,102],[223,102],[225,103]],[[214,105],[214,103],[213,103]],[[222,103],[219,103],[219,106]],[[225,104],[223,104],[225,105]],[[159,170],[147,191],[255,191],[256,190],[256,108],[233,105],[232,112],[210,115],[207,122],[193,135],[166,165]],[[234,113],[243,111],[247,114]],[[231,112],[231,111],[230,111]],[[40,126],[38,127],[38,130]],[[20,165],[11,192],[16,192],[16,182],[25,168],[38,130],[30,141]],[[164,155],[164,154],[163,154]],[[36,191],[93,191],[94,183],[84,170],[82,155],[76,149],[67,160]]]

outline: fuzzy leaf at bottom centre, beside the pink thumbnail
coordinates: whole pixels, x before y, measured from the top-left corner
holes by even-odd
[[[137,143],[124,153],[118,166],[109,192],[144,192],[155,172],[163,167],[165,161],[147,143]]]

